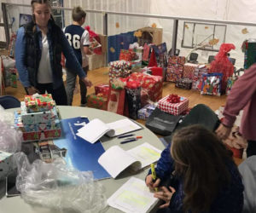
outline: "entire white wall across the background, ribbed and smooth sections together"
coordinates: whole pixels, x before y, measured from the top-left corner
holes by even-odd
[[[0,0],[0,3],[22,3],[30,4],[31,0]],[[255,0],[63,0],[65,8],[81,6],[85,10],[107,10],[114,12],[138,13],[138,14],[160,14],[174,17],[188,17],[209,20],[230,20],[239,22],[256,23],[256,3]],[[57,5],[56,5],[57,6]],[[13,29],[17,30],[19,25],[19,14],[31,14],[31,9],[26,7],[9,7],[9,13],[15,16]],[[16,17],[17,16],[17,17]],[[84,25],[97,32],[103,33],[103,14],[87,13]],[[71,11],[64,11],[65,25],[72,23]],[[2,9],[0,10],[0,19],[3,22]],[[9,21],[11,23],[11,21]],[[115,35],[121,32],[137,30],[143,26],[152,26],[155,23],[157,27],[163,28],[163,41],[167,43],[167,48],[172,47],[173,20],[149,19],[135,16],[125,16],[108,14],[108,35]],[[245,28],[247,29],[246,31]],[[0,41],[5,41],[3,27],[0,29]],[[244,33],[246,32],[246,33]],[[181,48],[183,38],[183,20],[178,22],[177,31],[177,49],[181,49],[180,55],[187,56],[191,49]],[[236,58],[236,66],[243,66],[243,53],[241,52],[241,43],[248,38],[256,38],[255,26],[227,25],[225,34],[225,43],[234,43],[235,50],[231,50],[230,55]],[[208,55],[216,55],[217,52],[197,49],[198,60],[206,62]]]

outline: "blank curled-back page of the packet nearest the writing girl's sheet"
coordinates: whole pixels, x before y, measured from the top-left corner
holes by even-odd
[[[132,158],[121,147],[113,146],[101,155],[101,157],[98,159],[98,162],[105,170],[108,171],[110,176],[116,178],[116,176],[118,176],[123,170],[125,170],[131,164],[136,163],[137,159]],[[137,170],[141,168],[141,164],[139,162],[132,166],[135,166]]]

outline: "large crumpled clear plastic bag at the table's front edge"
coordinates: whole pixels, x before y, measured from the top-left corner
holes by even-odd
[[[107,205],[102,184],[93,181],[90,171],[67,167],[61,159],[51,164],[35,160],[30,164],[24,153],[15,155],[16,187],[29,204],[70,212],[99,212]]]

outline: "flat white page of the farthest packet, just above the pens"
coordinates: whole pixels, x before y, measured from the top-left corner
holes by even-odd
[[[108,123],[107,125],[109,129],[114,130],[115,134],[113,136],[122,135],[131,131],[143,129],[140,125],[136,124],[128,118],[121,119],[113,123]]]

